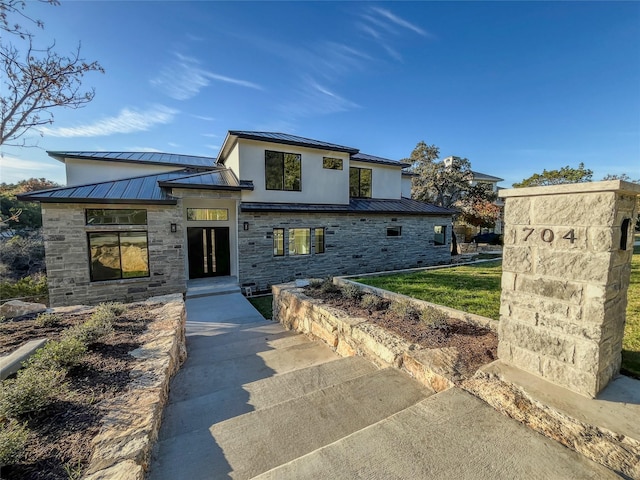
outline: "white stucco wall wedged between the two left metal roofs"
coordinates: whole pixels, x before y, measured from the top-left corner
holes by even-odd
[[[180,170],[182,168],[183,167],[179,165],[170,167],[164,165],[83,160],[78,158],[67,158],[65,161],[67,186],[153,175],[156,173],[170,172],[172,170]]]

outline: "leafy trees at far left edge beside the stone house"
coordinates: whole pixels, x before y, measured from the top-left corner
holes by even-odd
[[[40,204],[37,202],[22,202],[16,199],[16,195],[59,187],[55,182],[45,178],[30,178],[18,183],[0,183],[0,219],[10,223],[16,230],[34,229],[42,226],[42,214]],[[9,218],[18,213],[18,218],[7,222]],[[1,225],[1,224],[0,224]]]

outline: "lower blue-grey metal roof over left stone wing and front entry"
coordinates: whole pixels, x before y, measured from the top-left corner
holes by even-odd
[[[161,185],[187,188],[240,190],[242,186],[235,175],[224,171],[193,174],[182,169],[175,172],[145,175],[109,182],[60,187],[19,195],[20,200],[42,203],[140,203],[175,205],[177,200]],[[215,174],[218,175],[215,175]],[[202,176],[197,180],[194,177]],[[171,182],[175,181],[175,184]],[[207,183],[208,182],[208,183]],[[216,183],[217,182],[217,183]],[[252,187],[252,186],[251,186]],[[247,187],[248,188],[248,187]]]

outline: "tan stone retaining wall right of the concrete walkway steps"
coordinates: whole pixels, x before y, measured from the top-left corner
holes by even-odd
[[[399,368],[436,392],[451,388],[464,379],[457,367],[458,352],[455,348],[422,348],[366,318],[348,316],[321,300],[308,297],[293,283],[275,285],[272,291],[274,321],[288,330],[322,340],[343,357],[361,355],[379,367]],[[389,298],[389,295],[421,305],[427,303],[391,292],[386,292],[385,297]],[[484,319],[481,324],[488,326],[489,322],[492,320]],[[495,326],[491,328],[495,330]]]

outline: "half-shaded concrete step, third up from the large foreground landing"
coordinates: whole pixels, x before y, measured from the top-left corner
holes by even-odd
[[[171,382],[170,402],[209,395],[226,388],[272,377],[301,368],[337,360],[329,347],[304,339],[304,343],[277,350],[248,353],[216,363],[198,363],[189,359]]]

